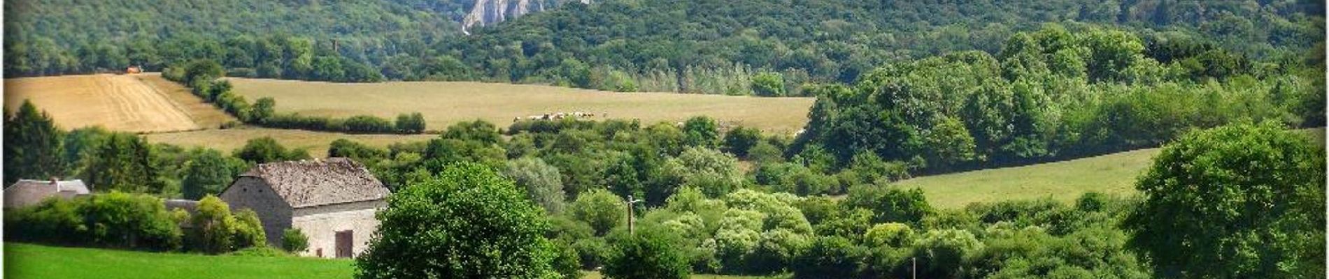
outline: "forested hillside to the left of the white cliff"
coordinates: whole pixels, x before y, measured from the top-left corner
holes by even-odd
[[[472,0],[5,1],[7,75],[149,70],[191,58],[239,60],[262,37],[303,40],[358,62],[460,33]],[[270,46],[270,45],[268,45]],[[271,46],[270,46],[271,48]],[[249,50],[249,49],[246,49]],[[280,49],[278,49],[280,50]],[[287,50],[290,52],[290,50]],[[253,66],[250,66],[253,67]]]

